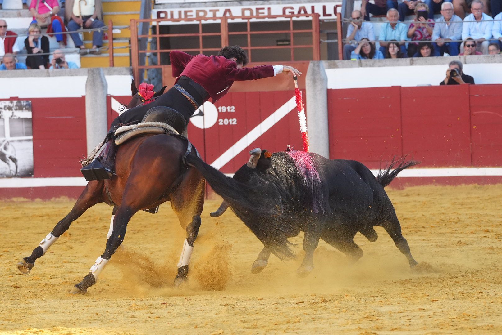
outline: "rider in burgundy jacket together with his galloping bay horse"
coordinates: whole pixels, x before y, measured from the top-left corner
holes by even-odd
[[[249,59],[238,46],[224,47],[216,56],[172,51],[170,59],[173,77],[177,77],[174,87],[165,93],[165,87],[154,93],[153,85],[142,84],[140,90],[133,85],[130,109],[112,122],[105,140],[83,161],[81,171],[89,183],[70,213],[18,264],[22,273],[30,273],[35,261],[73,221],[90,207],[104,202],[114,206],[105,250],[90,272],[71,290],[72,293],[86,292],[123,242],[133,215],[141,210],[155,213],[160,204],[169,201],[186,230],[174,284],[178,287],[187,280],[205,192],[202,174],[185,163],[187,155],[196,152],[181,135],[190,116],[205,101],[211,99],[214,103],[224,96],[236,80],[274,77],[279,73],[299,76],[301,72],[286,65],[245,68]],[[93,160],[103,144],[104,149]]]

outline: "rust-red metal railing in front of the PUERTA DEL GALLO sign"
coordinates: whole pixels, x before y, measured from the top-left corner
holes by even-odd
[[[293,29],[293,19],[294,18],[311,18],[312,26],[311,29]],[[256,19],[264,20],[264,19],[289,19],[289,30],[275,30],[275,31],[252,31],[250,24],[252,22],[259,22]],[[235,21],[238,22],[244,21],[246,24],[245,31],[229,31],[228,26]],[[204,21],[204,23],[202,23]],[[202,31],[202,27],[208,21],[213,21],[213,23],[217,23],[219,21],[220,24],[220,32],[212,32],[212,33],[204,33]],[[216,21],[216,22],[214,22]],[[150,23],[152,25],[157,25],[161,22],[187,22],[194,23],[198,25],[198,33],[183,33],[183,34],[160,34],[159,30],[157,30],[156,34],[153,32],[149,32],[149,34],[139,34],[138,32],[138,24],[140,23]],[[190,48],[190,49],[181,49],[181,51],[185,52],[198,52],[200,54],[204,52],[217,52],[222,47],[227,46],[229,44],[229,38],[231,36],[245,35],[247,37],[247,46],[241,46],[242,49],[247,51],[248,57],[250,61],[253,61],[253,50],[275,50],[275,49],[290,49],[291,50],[291,61],[294,61],[295,49],[300,48],[310,48],[312,49],[312,59],[320,60],[320,37],[319,37],[319,14],[297,14],[297,15],[276,15],[276,16],[253,16],[253,17],[221,17],[221,18],[193,18],[193,19],[144,19],[144,20],[131,20],[131,63],[133,66],[133,76],[135,80],[140,78],[140,70],[153,69],[153,68],[163,68],[165,65],[161,65],[161,53],[171,52],[175,49],[160,49],[161,38],[171,38],[171,37],[198,37],[199,39],[199,47],[198,48]],[[294,34],[296,33],[311,33],[312,35],[312,43],[311,44],[295,44]],[[290,36],[290,45],[285,46],[252,46],[251,45],[251,37],[255,35],[267,35],[267,34],[289,34]],[[203,46],[203,38],[208,36],[220,36],[221,37],[221,45],[218,48],[205,48]],[[157,49],[148,48],[139,48],[138,41],[148,38],[156,39]],[[176,49],[180,50],[180,49]],[[144,54],[157,54],[157,65],[142,65],[140,63],[140,56]]]

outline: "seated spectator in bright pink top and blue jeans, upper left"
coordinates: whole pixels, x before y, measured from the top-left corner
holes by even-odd
[[[37,23],[40,28],[48,28],[47,33],[56,34],[59,47],[64,48],[63,35],[60,34],[63,32],[64,22],[59,16],[55,15],[58,12],[58,0],[32,0],[30,4],[30,13],[33,16],[32,23]]]

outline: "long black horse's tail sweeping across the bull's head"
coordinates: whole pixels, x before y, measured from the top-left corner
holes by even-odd
[[[260,192],[260,185],[239,183],[227,177],[195,155],[188,155],[186,163],[197,169],[232,208],[237,217],[258,239],[280,259],[295,258],[288,240],[292,227],[281,220],[281,212],[267,203],[266,195]],[[250,184],[254,184],[250,181]],[[264,192],[266,192],[264,190]]]

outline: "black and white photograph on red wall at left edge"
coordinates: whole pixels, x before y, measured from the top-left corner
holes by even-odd
[[[0,178],[33,177],[31,101],[0,101],[0,160]]]

